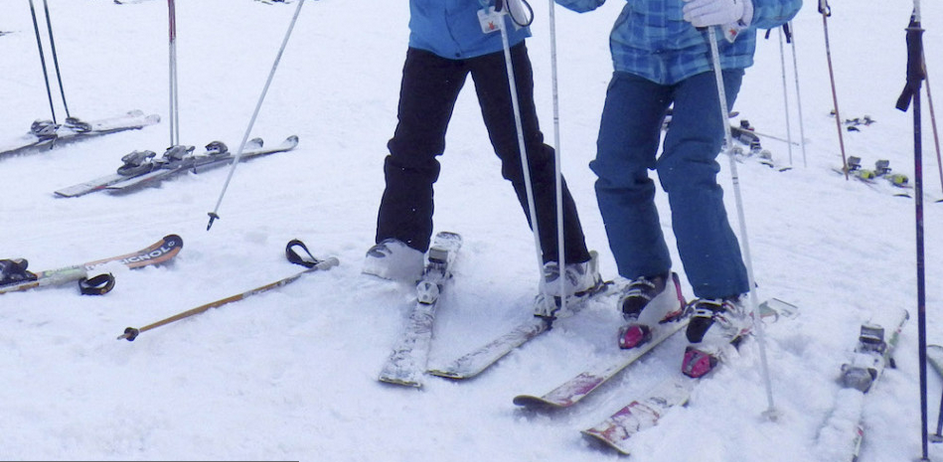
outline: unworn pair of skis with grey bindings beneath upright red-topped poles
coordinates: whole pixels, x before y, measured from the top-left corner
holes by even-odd
[[[240,162],[277,152],[290,151],[298,146],[298,137],[289,136],[274,147],[263,147],[261,138],[255,138],[243,147]],[[193,146],[171,146],[160,158],[155,158],[153,151],[134,151],[121,158],[123,165],[116,173],[105,175],[91,181],[79,183],[56,191],[58,197],[78,197],[95,191],[108,190],[122,193],[151,186],[184,172],[200,173],[217,167],[229,165],[235,159],[220,141],[206,145],[202,154],[193,154]]]

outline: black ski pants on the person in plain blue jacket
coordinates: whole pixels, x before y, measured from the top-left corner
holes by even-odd
[[[511,48],[511,61],[543,261],[558,261],[554,151],[544,144],[537,123],[533,70],[523,43]],[[387,145],[390,154],[384,164],[386,189],[377,218],[377,242],[392,237],[414,249],[428,249],[433,229],[432,185],[440,168],[436,157],[445,150],[449,119],[468,74],[475,82],[491,144],[501,159],[501,174],[514,186],[528,224],[531,223],[504,53],[454,60],[409,48],[400,88],[399,122]],[[566,182],[563,212],[566,262],[585,262],[589,252]]]

